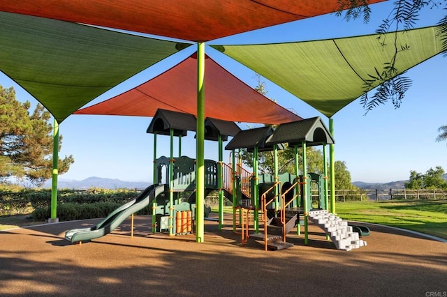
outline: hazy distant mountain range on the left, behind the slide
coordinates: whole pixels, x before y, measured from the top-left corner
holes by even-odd
[[[85,178],[82,181],[75,181],[70,179],[59,178],[57,181],[57,188],[59,189],[74,189],[74,190],[86,190],[89,188],[101,188],[101,189],[145,189],[152,183],[144,181],[120,181],[114,178],[101,178],[91,176]],[[44,183],[42,188],[51,188],[51,180]]]

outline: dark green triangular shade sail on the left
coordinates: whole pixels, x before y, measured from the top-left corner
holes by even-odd
[[[0,70],[59,123],[101,93],[177,52],[172,41],[1,12],[0,40]]]

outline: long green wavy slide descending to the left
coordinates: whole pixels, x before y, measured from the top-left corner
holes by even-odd
[[[65,239],[72,243],[77,243],[109,234],[126,220],[126,218],[129,218],[129,215],[149,206],[153,199],[164,192],[164,190],[164,185],[150,185],[136,199],[115,209],[115,211],[110,213],[102,222],[96,224],[96,226],[66,231]]]

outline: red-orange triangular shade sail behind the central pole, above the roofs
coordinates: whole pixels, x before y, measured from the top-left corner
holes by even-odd
[[[205,56],[205,69],[205,117],[270,124],[301,119],[244,84],[209,56]],[[197,115],[195,54],[148,82],[75,114],[154,116],[159,108]]]

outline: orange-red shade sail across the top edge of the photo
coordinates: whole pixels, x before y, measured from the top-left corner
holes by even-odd
[[[369,0],[376,3],[383,0]],[[207,41],[339,10],[339,0],[0,0],[0,10]],[[345,7],[348,8],[348,7]]]

